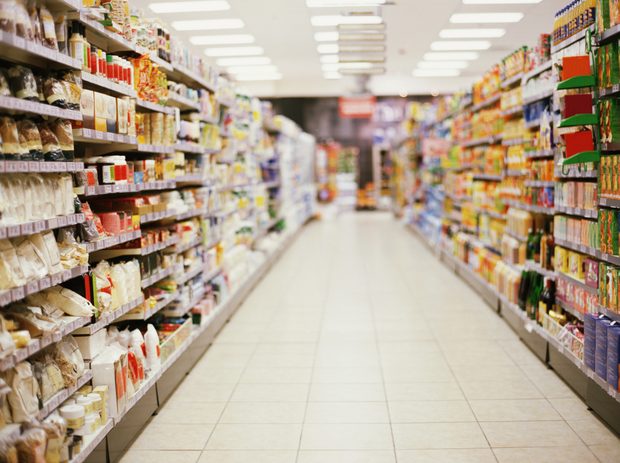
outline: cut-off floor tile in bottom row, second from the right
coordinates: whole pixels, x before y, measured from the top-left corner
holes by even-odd
[[[585,445],[547,448],[493,449],[499,463],[597,463]]]

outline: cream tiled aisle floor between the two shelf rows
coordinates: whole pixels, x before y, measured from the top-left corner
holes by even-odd
[[[123,463],[619,462],[620,441],[387,214],[311,224]]]

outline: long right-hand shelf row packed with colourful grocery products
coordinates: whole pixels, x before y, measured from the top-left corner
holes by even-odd
[[[620,429],[616,6],[571,2],[404,129],[412,226]]]

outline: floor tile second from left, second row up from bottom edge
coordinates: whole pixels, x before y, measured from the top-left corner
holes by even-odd
[[[295,450],[300,424],[218,424],[208,450]]]

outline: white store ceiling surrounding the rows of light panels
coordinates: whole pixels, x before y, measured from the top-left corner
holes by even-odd
[[[153,0],[137,0],[147,16],[153,16],[147,5]],[[159,1],[159,0],[155,0]],[[167,0],[170,1],[170,0]],[[327,80],[323,77],[314,33],[329,28],[313,28],[310,16],[337,14],[337,8],[310,9],[305,0],[228,0],[232,8],[222,12],[176,13],[159,17],[170,23],[180,19],[241,18],[244,29],[209,32],[179,32],[175,36],[185,40],[203,34],[252,34],[253,45],[264,48],[282,73],[282,80],[273,82],[243,82],[242,87],[261,97],[340,96],[355,88],[353,77]],[[539,4],[523,5],[464,5],[462,0],[395,0],[396,5],[383,7],[387,24],[387,72],[371,78],[370,89],[376,95],[399,93],[449,93],[467,89],[475,78],[494,63],[521,45],[535,45],[541,32],[551,32],[555,11],[567,0],[543,0]],[[134,4],[132,2],[132,4]],[[490,39],[492,47],[480,52],[459,77],[413,77],[411,72],[430,51],[430,43],[439,39],[439,31],[446,27],[466,28],[477,25],[451,25],[453,13],[518,11],[525,17],[516,24],[484,24],[479,27],[506,29],[504,37]],[[204,47],[193,46],[197,53]]]

